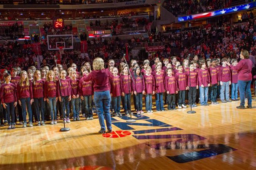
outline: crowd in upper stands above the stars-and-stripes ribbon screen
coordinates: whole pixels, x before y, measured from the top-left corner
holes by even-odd
[[[165,0],[163,3],[163,7],[175,16],[217,10],[224,5],[224,0]]]

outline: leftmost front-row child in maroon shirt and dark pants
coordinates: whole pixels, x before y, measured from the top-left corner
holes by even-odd
[[[15,107],[17,105],[16,86],[15,84],[10,83],[10,74],[5,73],[3,78],[5,79],[5,83],[3,83],[0,87],[0,99],[3,108],[6,111],[7,121],[9,125],[7,129],[15,129]]]

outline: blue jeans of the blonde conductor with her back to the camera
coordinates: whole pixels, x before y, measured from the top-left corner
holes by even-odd
[[[109,113],[110,102],[111,102],[111,95],[109,91],[94,92],[94,103],[97,108],[97,114],[100,122],[100,129],[102,130],[106,130],[103,114],[105,114],[107,129],[112,130],[111,116]]]

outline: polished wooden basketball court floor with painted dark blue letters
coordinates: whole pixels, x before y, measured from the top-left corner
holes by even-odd
[[[112,134],[98,119],[63,126],[0,128],[0,170],[255,170],[256,100],[113,117]]]

